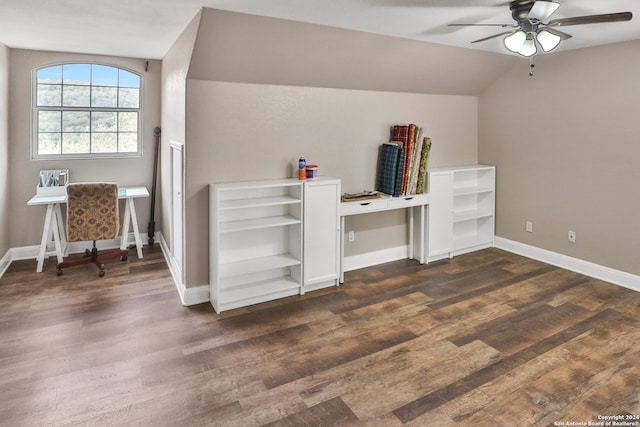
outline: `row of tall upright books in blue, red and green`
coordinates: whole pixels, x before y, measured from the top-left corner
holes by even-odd
[[[391,127],[390,141],[378,154],[377,190],[394,197],[426,191],[431,138],[423,137],[415,124]]]

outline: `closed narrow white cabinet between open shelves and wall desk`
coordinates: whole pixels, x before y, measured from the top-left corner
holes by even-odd
[[[338,285],[340,277],[340,180],[304,183],[304,280],[302,293]]]

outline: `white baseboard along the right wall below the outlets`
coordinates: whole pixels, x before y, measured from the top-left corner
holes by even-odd
[[[640,292],[640,276],[496,236],[495,247]]]

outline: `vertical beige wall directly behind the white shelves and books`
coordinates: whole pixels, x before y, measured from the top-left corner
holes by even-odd
[[[347,192],[373,189],[389,126],[414,122],[435,166],[477,159],[477,99],[189,80],[186,193],[190,283],[208,283],[208,184],[292,177],[300,155]],[[366,227],[363,225],[366,224]],[[407,244],[402,212],[350,218],[347,256]]]

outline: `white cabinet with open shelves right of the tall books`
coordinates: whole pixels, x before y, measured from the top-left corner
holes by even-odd
[[[429,171],[428,260],[491,247],[495,236],[495,167]]]

